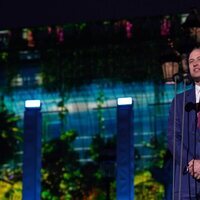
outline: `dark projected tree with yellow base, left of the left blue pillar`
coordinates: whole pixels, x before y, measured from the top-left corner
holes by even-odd
[[[20,150],[21,130],[19,117],[8,111],[3,97],[0,101],[0,199],[11,199],[21,196],[21,169],[16,167],[16,153]],[[14,162],[13,162],[14,161]],[[6,165],[4,165],[6,164]],[[13,165],[14,164],[14,165]],[[14,168],[13,168],[14,167]]]

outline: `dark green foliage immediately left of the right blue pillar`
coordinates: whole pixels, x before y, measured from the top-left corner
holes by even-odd
[[[96,188],[106,193],[110,190],[112,183],[115,182],[115,152],[115,138],[106,140],[100,134],[93,138],[90,147],[90,156],[93,162],[88,163],[83,171],[83,176],[88,170],[90,171],[89,179],[85,180],[85,185],[88,184],[85,191],[89,193]],[[107,195],[110,195],[110,192]]]

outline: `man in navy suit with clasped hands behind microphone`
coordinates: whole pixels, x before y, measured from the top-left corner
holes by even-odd
[[[177,94],[168,121],[168,148],[173,154],[173,200],[200,199],[200,48],[189,54],[194,87]]]

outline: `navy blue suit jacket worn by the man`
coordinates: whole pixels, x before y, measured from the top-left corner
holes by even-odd
[[[179,180],[181,180],[181,200],[195,198],[200,194],[199,181],[195,180],[186,170],[190,160],[200,159],[200,130],[196,127],[196,112],[195,87],[176,95],[173,99],[168,121],[168,148],[175,157],[175,200],[178,200],[180,191]],[[182,137],[183,146],[181,148]],[[174,138],[175,155],[173,153]]]

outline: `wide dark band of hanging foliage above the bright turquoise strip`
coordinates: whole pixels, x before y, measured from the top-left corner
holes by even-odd
[[[153,41],[77,48],[57,45],[42,53],[43,87],[63,92],[102,79],[125,83],[161,80],[159,48]]]

